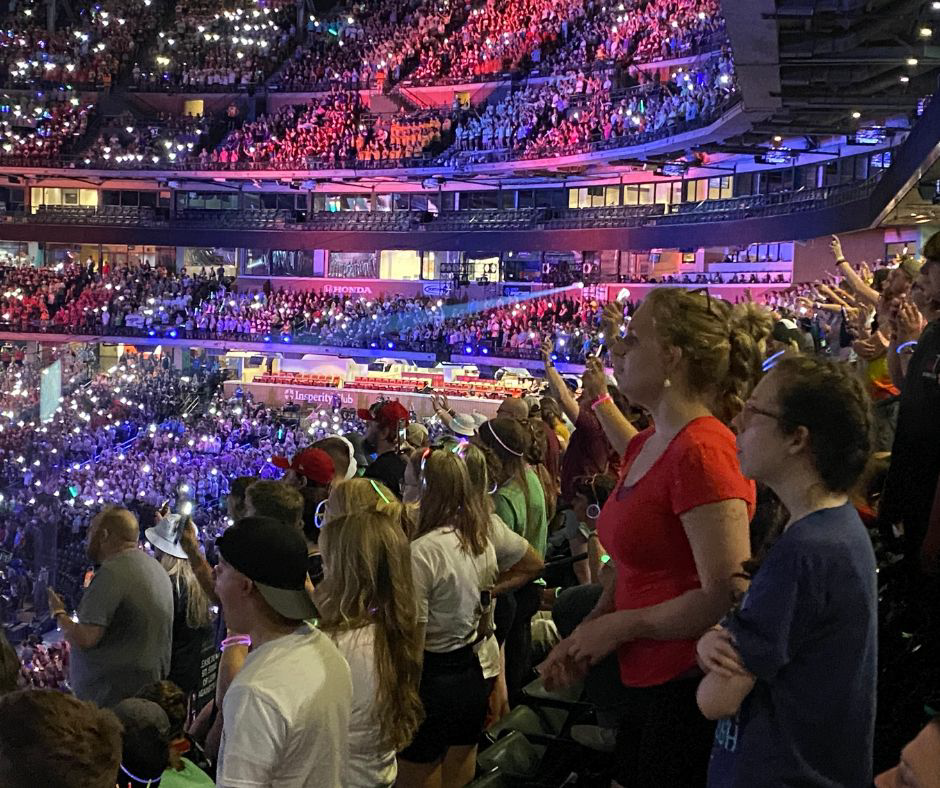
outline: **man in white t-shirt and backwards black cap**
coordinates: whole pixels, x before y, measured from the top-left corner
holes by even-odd
[[[216,593],[226,622],[251,651],[222,707],[216,783],[340,788],[349,755],[349,666],[329,637],[305,623],[298,529],[263,517],[239,520],[218,539]]]

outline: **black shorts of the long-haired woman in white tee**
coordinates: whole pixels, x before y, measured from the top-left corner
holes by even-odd
[[[424,722],[399,753],[411,763],[434,763],[449,747],[475,745],[483,732],[489,691],[480,660],[470,646],[424,652],[419,688]]]

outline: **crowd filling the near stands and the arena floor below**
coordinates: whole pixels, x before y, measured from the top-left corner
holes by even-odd
[[[35,626],[0,659],[8,784],[463,786],[547,697],[590,717],[503,774],[935,785],[940,235],[833,252],[767,305],[604,305],[612,378],[562,378],[574,305],[539,304],[544,389],[489,419],[279,411],[155,354],[9,425],[0,598]]]

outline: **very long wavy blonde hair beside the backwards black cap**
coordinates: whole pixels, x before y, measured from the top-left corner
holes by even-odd
[[[329,633],[375,627],[375,721],[382,746],[400,750],[424,718],[421,645],[411,549],[397,521],[360,511],[323,526],[320,626]]]

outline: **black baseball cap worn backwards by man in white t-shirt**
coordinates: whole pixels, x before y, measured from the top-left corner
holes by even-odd
[[[271,517],[243,517],[216,547],[282,616],[301,621],[317,615],[307,593],[307,545],[299,530]]]

